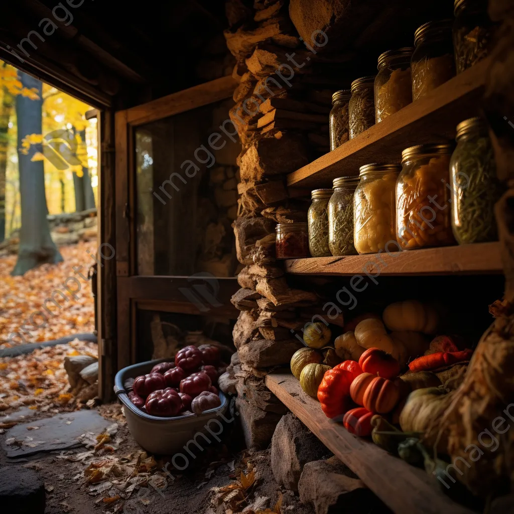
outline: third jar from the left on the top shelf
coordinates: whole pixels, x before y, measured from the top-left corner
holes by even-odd
[[[412,103],[411,58],[414,48],[384,52],[378,58],[375,78],[377,123]]]

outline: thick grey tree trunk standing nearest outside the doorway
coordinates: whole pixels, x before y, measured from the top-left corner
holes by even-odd
[[[12,275],[23,275],[40,264],[55,264],[63,260],[52,241],[46,218],[48,209],[43,161],[31,161],[35,152],[42,152],[41,145],[31,145],[27,155],[20,152],[23,138],[29,134],[42,133],[42,83],[22,71],[19,72],[19,77],[24,87],[37,91],[39,100],[30,100],[22,95],[16,97],[22,226],[18,259]]]

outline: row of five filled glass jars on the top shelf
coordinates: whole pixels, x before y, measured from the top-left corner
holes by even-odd
[[[378,75],[337,91],[329,116],[331,150],[358,136],[464,71],[489,52],[494,24],[487,0],[455,0],[455,20],[429,22],[414,34],[415,48],[384,52]]]

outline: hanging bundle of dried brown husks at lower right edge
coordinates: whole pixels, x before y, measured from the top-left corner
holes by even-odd
[[[459,464],[462,471],[458,480],[483,496],[494,494],[514,480],[514,430],[503,435],[493,430],[495,418],[506,419],[502,429],[513,420],[505,412],[514,402],[512,370],[514,315],[497,319],[482,336],[462,384],[443,398],[443,413],[434,417],[426,432],[426,440],[435,440],[438,447],[448,441],[451,462]],[[508,412],[514,416],[513,407]],[[498,447],[485,430],[498,440]],[[455,461],[457,458],[469,467]]]

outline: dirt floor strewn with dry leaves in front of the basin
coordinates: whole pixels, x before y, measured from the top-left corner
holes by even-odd
[[[237,448],[229,449],[222,440],[199,453],[191,469],[174,471],[171,464],[167,466],[169,458],[147,455],[139,447],[128,432],[121,406],[111,404],[98,410],[118,425],[118,431],[103,444],[95,437],[91,444],[96,443],[96,449],[82,447],[22,460],[8,460],[1,451],[0,467],[26,466],[44,481],[46,514],[314,513],[274,481],[269,450],[236,452]],[[38,413],[31,424],[50,414]],[[5,437],[5,433],[0,435],[0,442]],[[234,433],[227,433],[224,439],[240,446],[240,437]]]

